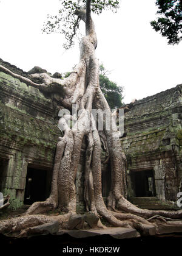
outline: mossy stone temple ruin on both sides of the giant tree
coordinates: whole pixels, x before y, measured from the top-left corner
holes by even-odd
[[[0,64],[27,76],[16,66],[2,60]],[[181,87],[124,107],[121,144],[127,157],[127,196],[141,208],[178,208],[177,194],[182,190]],[[0,191],[10,194],[10,208],[49,196],[55,148],[61,136],[57,126],[60,107],[38,89],[0,72]],[[76,178],[79,202],[83,201],[85,148],[83,143]],[[104,157],[105,152],[102,154]],[[108,165],[102,166],[104,197],[110,188]]]

